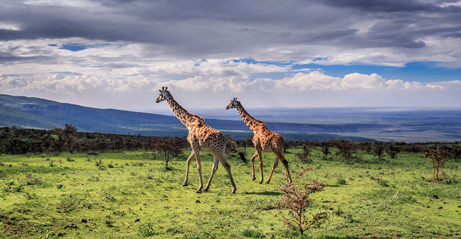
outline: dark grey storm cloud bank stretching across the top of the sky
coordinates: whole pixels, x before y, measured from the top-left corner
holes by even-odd
[[[422,37],[458,35],[461,8],[441,7],[449,2],[104,0],[85,8],[5,1],[0,23],[19,30],[0,29],[0,39],[152,43],[163,53],[196,57],[286,44],[422,48]],[[376,24],[356,27],[367,22]]]

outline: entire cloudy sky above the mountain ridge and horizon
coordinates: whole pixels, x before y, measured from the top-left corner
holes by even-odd
[[[98,108],[460,107],[461,1],[0,0],[0,94]]]

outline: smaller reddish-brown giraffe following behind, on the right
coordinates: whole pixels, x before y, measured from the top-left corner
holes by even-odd
[[[251,169],[253,171],[253,180],[256,180],[255,173],[254,173],[254,159],[256,155],[259,158],[259,167],[261,171],[261,180],[259,184],[263,182],[263,175],[262,175],[262,154],[261,151],[264,152],[274,152],[275,158],[274,163],[272,166],[272,171],[270,172],[269,178],[267,178],[266,184],[270,182],[270,178],[272,177],[272,173],[277,166],[279,159],[282,161],[283,165],[285,166],[285,170],[287,171],[288,181],[291,183],[291,176],[290,171],[288,169],[288,161],[284,157],[284,149],[285,149],[285,141],[281,135],[273,133],[272,131],[268,130],[266,124],[262,121],[258,121],[253,118],[242,106],[240,101],[237,98],[234,98],[230,101],[230,103],[226,106],[226,109],[230,108],[237,108],[242,120],[245,124],[253,131],[253,144],[255,146],[255,153],[251,157]]]

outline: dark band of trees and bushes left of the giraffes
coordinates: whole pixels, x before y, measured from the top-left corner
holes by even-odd
[[[187,140],[183,138],[78,132],[75,126],[67,124],[64,128],[53,127],[50,130],[0,128],[0,153],[2,154],[62,152],[96,154],[142,149],[169,153],[169,151],[177,151],[178,148],[182,149],[187,144]]]

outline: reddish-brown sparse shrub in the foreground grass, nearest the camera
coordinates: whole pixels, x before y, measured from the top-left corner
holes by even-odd
[[[293,178],[293,182],[302,176],[305,172],[310,171],[312,166],[305,168],[298,175]],[[283,218],[283,225],[291,228],[298,229],[301,234],[304,231],[320,227],[328,220],[328,212],[319,212],[315,215],[306,216],[306,210],[309,207],[313,199],[310,198],[310,194],[323,190],[324,186],[322,182],[313,178],[312,184],[304,184],[302,187],[298,187],[293,183],[287,183],[279,186],[278,189],[282,191],[282,198],[277,202],[277,210]],[[283,212],[284,209],[288,209],[288,213]]]

